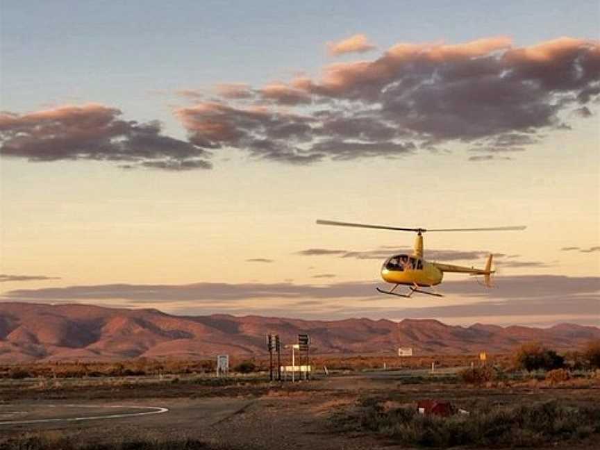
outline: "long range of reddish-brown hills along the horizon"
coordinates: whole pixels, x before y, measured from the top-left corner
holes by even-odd
[[[205,358],[219,353],[266,353],[265,333],[284,343],[309,333],[317,353],[390,353],[413,347],[416,354],[506,352],[537,340],[575,349],[600,338],[600,328],[559,324],[531,328],[474,324],[449,326],[437,320],[346,319],[317,321],[281,317],[208,315],[181,317],[151,309],[101,308],[78,304],[0,303],[0,362]]]

